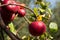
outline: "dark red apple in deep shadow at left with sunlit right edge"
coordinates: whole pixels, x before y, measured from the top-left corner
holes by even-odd
[[[6,25],[8,25],[11,21],[13,21],[13,19],[15,17],[15,13],[9,12],[5,9],[2,9],[1,10],[1,16],[2,16],[2,19],[3,19],[4,23]]]

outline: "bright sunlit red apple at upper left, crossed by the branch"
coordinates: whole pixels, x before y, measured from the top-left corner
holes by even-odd
[[[16,4],[16,2],[13,0],[3,0],[2,4]],[[8,5],[8,6],[4,6],[4,8],[12,12],[17,12],[18,10],[18,7],[16,5]]]

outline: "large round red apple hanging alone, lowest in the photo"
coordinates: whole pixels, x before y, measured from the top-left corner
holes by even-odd
[[[42,21],[34,21],[29,24],[29,32],[33,36],[40,36],[46,32],[46,25]]]

